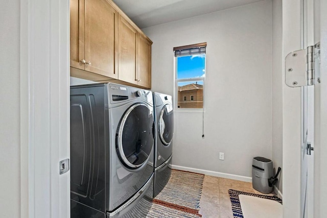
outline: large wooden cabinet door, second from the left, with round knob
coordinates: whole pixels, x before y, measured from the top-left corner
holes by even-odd
[[[85,70],[117,79],[118,13],[105,0],[85,0]]]

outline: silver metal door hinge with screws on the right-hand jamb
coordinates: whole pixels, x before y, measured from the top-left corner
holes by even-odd
[[[285,83],[289,87],[320,83],[320,42],[286,56]]]

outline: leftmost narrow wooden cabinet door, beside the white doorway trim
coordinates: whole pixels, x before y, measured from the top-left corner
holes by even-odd
[[[84,69],[84,0],[70,2],[71,66]]]

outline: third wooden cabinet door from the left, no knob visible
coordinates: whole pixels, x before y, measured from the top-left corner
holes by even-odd
[[[136,51],[137,32],[119,15],[118,23],[118,79],[137,84]]]

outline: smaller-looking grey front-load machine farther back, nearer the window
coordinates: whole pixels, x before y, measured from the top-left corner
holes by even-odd
[[[166,186],[171,175],[174,135],[172,96],[153,92],[156,123],[153,197]]]

